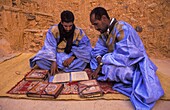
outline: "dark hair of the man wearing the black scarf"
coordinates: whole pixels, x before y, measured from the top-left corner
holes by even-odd
[[[74,15],[71,11],[63,11],[61,13],[61,22],[74,22]]]

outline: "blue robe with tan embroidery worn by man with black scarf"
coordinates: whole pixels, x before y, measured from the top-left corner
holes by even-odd
[[[66,47],[65,40],[57,45],[59,41],[60,33],[58,25],[54,25],[48,30],[42,49],[30,59],[31,68],[37,64],[42,69],[50,70],[51,63],[54,61],[57,63],[58,68],[65,72],[84,70],[87,63],[90,62],[92,47],[90,40],[83,30],[75,27],[72,49],[69,54],[66,54],[62,49]],[[72,55],[76,56],[76,59],[68,67],[64,67],[63,61]]]

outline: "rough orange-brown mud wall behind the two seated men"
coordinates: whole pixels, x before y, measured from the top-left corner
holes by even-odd
[[[89,13],[96,6],[137,30],[142,28],[139,35],[149,56],[170,57],[169,0],[0,0],[0,39],[5,38],[14,50],[37,52],[48,28],[67,9],[94,46],[99,33],[90,24]]]

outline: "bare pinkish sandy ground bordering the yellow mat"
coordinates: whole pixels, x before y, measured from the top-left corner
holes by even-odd
[[[154,59],[158,70],[170,76],[170,59]],[[130,101],[45,101],[0,98],[0,110],[133,110]],[[170,110],[170,101],[159,100],[153,110]]]

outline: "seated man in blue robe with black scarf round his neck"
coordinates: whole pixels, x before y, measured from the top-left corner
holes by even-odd
[[[74,25],[73,13],[63,11],[61,22],[48,30],[44,46],[30,59],[30,66],[50,70],[51,75],[58,73],[59,69],[64,72],[82,71],[90,62],[91,50],[84,31]]]

